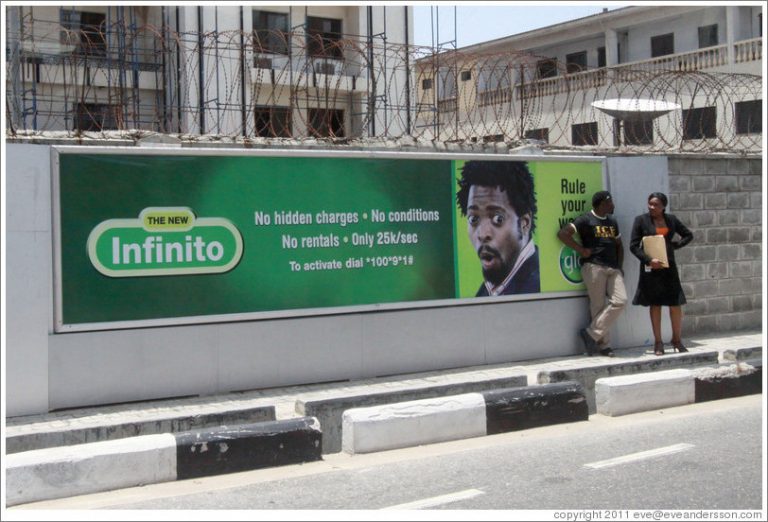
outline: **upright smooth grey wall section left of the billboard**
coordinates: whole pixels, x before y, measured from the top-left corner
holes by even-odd
[[[48,410],[48,342],[53,330],[49,151],[47,146],[6,146],[3,346],[6,412],[11,416]]]

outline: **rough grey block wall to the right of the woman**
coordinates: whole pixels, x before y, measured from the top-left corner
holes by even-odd
[[[670,208],[694,234],[676,253],[689,332],[762,325],[762,170],[761,159],[669,159]]]

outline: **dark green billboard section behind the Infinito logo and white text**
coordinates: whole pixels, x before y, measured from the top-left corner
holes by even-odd
[[[248,313],[452,298],[451,162],[239,156],[60,156],[62,310],[65,324]],[[90,231],[134,219],[147,207],[189,207],[223,217],[243,237],[240,263],[224,274],[109,278],[87,257]],[[437,222],[372,223],[372,209],[433,210]],[[357,212],[360,222],[277,226],[274,212]],[[272,216],[257,226],[254,213]],[[369,218],[362,219],[363,213]],[[282,247],[283,235],[393,231],[415,245]],[[299,264],[370,256],[413,256],[397,267],[294,272]]]

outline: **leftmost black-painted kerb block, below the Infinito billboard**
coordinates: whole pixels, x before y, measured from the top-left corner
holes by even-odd
[[[179,480],[321,460],[322,433],[313,417],[178,433]]]

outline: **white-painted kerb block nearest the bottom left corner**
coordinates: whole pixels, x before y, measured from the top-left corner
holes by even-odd
[[[146,435],[14,453],[5,457],[13,506],[176,480],[176,439]]]

